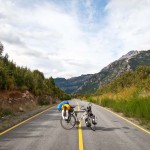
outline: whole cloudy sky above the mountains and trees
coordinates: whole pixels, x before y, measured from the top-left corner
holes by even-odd
[[[0,0],[0,42],[18,66],[71,78],[149,50],[149,18],[150,0]]]

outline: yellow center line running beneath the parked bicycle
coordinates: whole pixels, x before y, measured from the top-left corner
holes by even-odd
[[[80,111],[79,104],[78,104],[78,111]],[[79,135],[79,150],[84,150],[81,120],[78,126],[78,135]]]

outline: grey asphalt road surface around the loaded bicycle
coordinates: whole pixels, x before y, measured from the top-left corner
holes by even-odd
[[[86,102],[72,100],[87,106]],[[93,104],[97,130],[82,122],[84,150],[149,150],[150,135]],[[0,150],[78,150],[78,128],[65,130],[56,107],[0,136]]]

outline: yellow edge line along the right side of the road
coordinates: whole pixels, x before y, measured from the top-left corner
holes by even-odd
[[[99,105],[98,105],[98,106],[99,106]],[[101,106],[99,106],[99,107],[101,107]],[[145,130],[144,128],[142,128],[142,127],[140,127],[140,126],[138,126],[138,125],[136,125],[136,124],[134,124],[133,122],[131,122],[131,121],[129,121],[128,119],[126,119],[126,118],[124,118],[124,117],[118,115],[117,113],[115,113],[115,112],[113,112],[113,111],[111,111],[111,110],[109,110],[109,109],[107,109],[107,108],[104,108],[104,107],[101,107],[101,108],[104,109],[104,110],[107,110],[107,111],[111,112],[112,114],[116,115],[117,117],[119,117],[119,118],[121,118],[121,119],[127,121],[128,123],[132,124],[132,125],[135,126],[136,128],[138,128],[138,129],[144,131],[145,133],[150,134],[149,131]]]

